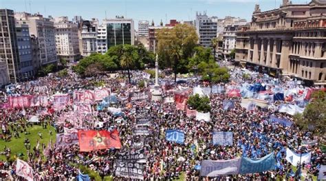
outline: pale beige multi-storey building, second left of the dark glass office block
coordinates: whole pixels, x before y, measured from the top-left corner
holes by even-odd
[[[58,17],[54,20],[56,28],[56,52],[59,58],[69,62],[80,59],[78,43],[78,24],[68,20],[68,17]]]

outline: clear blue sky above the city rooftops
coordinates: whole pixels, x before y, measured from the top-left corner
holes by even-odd
[[[279,8],[283,0],[0,0],[0,8],[15,12],[39,12],[45,17],[79,15],[83,19],[102,19],[124,16],[135,21],[152,20],[155,25],[169,23],[170,19],[190,21],[196,12],[206,11],[209,17],[241,17],[250,21],[254,5],[259,3],[262,11]],[[307,3],[310,0],[292,0]],[[106,12],[106,13],[105,13]],[[106,14],[106,16],[105,16]]]

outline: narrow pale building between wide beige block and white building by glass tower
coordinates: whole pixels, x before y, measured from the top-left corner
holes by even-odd
[[[98,22],[98,21],[97,21]],[[83,21],[82,30],[80,32],[82,56],[89,56],[97,51],[96,39],[98,33],[98,23],[96,21]]]

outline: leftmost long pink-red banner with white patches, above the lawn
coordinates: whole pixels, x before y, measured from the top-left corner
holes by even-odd
[[[11,108],[14,107],[35,107],[35,106],[43,106],[46,107],[49,105],[47,96],[18,96],[18,97],[12,97],[10,96],[8,98],[8,105]]]

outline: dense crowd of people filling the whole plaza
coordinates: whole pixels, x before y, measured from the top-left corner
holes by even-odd
[[[115,94],[118,103],[111,105],[121,108],[123,114],[114,115],[107,109],[97,109],[99,102],[91,104],[92,110],[96,113],[85,118],[83,129],[105,129],[111,131],[117,129],[120,136],[121,149],[103,149],[90,152],[80,152],[78,144],[67,147],[56,147],[54,142],[50,145],[30,145],[29,127],[35,124],[43,125],[43,129],[54,127],[55,133],[51,131],[47,135],[61,134],[64,128],[73,128],[74,124],[69,120],[65,123],[58,123],[58,118],[65,112],[72,111],[72,105],[64,109],[51,111],[50,114],[40,114],[39,123],[29,123],[28,115],[39,114],[48,107],[19,107],[0,109],[0,125],[2,140],[8,143],[2,147],[0,153],[6,156],[6,160],[0,161],[1,178],[12,180],[19,179],[15,173],[16,162],[12,158],[26,155],[23,159],[34,169],[35,180],[75,180],[78,177],[78,166],[84,165],[99,173],[101,177],[113,176],[114,180],[126,180],[116,176],[116,159],[118,153],[135,149],[135,143],[141,142],[146,153],[146,164],[144,164],[144,180],[173,180],[180,178],[184,173],[186,180],[276,180],[284,178],[294,180],[294,173],[291,164],[285,159],[285,149],[290,148],[297,153],[311,152],[311,162],[303,165],[302,175],[305,180],[312,180],[317,175],[318,168],[325,164],[325,153],[320,149],[319,137],[314,136],[310,131],[302,131],[295,124],[292,126],[270,123],[270,116],[286,118],[293,121],[293,117],[280,113],[276,109],[252,109],[248,111],[241,107],[241,98],[230,97],[225,92],[210,94],[210,121],[197,120],[193,116],[186,116],[186,111],[176,109],[175,103],[163,103],[163,101],[151,101],[150,98],[132,101],[123,99],[129,96],[130,92],[138,89],[140,92],[150,92],[153,80],[143,78],[143,72],[132,72],[133,83],[127,83],[123,74],[116,74],[115,78],[108,76],[96,76],[91,78],[80,78],[73,72],[69,76],[58,78],[56,74],[38,78],[36,81],[17,83],[10,85],[0,92],[0,103],[6,103],[8,96],[22,95],[47,95],[57,93],[72,95],[76,90],[96,89],[98,82],[101,86],[111,89]],[[241,85],[242,83],[256,83],[263,76],[252,76],[243,79],[241,70],[232,67],[230,83],[221,83],[219,86]],[[257,74],[255,74],[257,75]],[[138,87],[138,82],[145,80],[147,87]],[[275,81],[275,80],[274,80]],[[199,78],[188,79],[186,83],[174,83],[171,79],[161,78],[161,84],[170,85],[170,91],[162,89],[163,97],[173,97],[174,92],[180,85],[188,87],[188,94],[192,94],[192,88],[201,85],[210,86],[208,83],[199,81]],[[287,84],[277,80],[279,85],[287,88]],[[270,87],[272,89],[272,87]],[[121,99],[119,99],[121,97]],[[234,107],[224,109],[225,100],[234,101]],[[131,105],[131,106],[130,106]],[[133,130],[140,118],[148,118],[151,124],[148,126],[149,135],[135,135]],[[104,123],[96,126],[96,122]],[[165,138],[165,131],[178,129],[184,132],[184,144],[169,142]],[[213,131],[231,131],[233,133],[233,144],[230,146],[213,145]],[[14,139],[25,138],[27,153],[19,156],[18,153],[10,151],[10,142]],[[303,140],[314,140],[314,145],[302,146]],[[276,156],[276,167],[272,171],[246,175],[224,175],[215,178],[204,178],[199,175],[199,166],[202,160],[229,160],[245,156],[252,159],[262,158],[274,151]],[[135,179],[134,179],[135,180]]]

